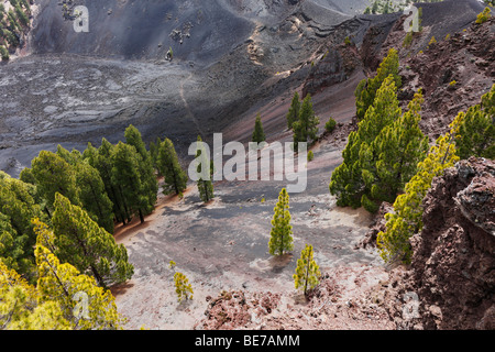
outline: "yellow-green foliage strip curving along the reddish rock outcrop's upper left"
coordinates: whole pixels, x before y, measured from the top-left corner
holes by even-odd
[[[482,103],[460,112],[450,132],[437,140],[427,157],[418,164],[418,172],[405,187],[405,194],[394,202],[394,212],[385,216],[386,231],[377,235],[377,245],[385,262],[397,258],[409,262],[409,239],[422,229],[422,199],[435,177],[459,160],[472,155],[494,158],[495,85],[482,97]],[[459,156],[458,156],[459,155]]]

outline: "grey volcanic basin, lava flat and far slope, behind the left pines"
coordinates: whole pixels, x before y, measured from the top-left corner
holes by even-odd
[[[198,134],[210,138],[297,84],[304,72],[284,86],[274,85],[286,77],[276,73],[306,65],[349,18],[331,3],[92,1],[89,33],[76,33],[62,3],[41,0],[33,55],[0,67],[0,168],[16,175],[58,143],[117,142],[130,123],[146,141],[173,139],[184,156]],[[169,46],[173,63],[164,59]]]

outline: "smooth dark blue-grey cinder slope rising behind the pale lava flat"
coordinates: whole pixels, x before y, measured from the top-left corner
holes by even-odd
[[[280,21],[299,6],[298,2],[76,0],[70,2],[64,18],[59,1],[42,0],[33,31],[33,50],[35,53],[160,58],[165,57],[172,46],[177,58],[211,63],[246,38],[255,25]],[[319,2],[320,6],[301,1],[302,7],[324,10],[317,12],[327,16],[342,12],[339,3],[345,3]],[[356,8],[364,3],[354,1]],[[73,21],[67,19],[76,6],[88,8],[88,33],[76,33]],[[351,11],[350,7],[345,6],[344,11]]]

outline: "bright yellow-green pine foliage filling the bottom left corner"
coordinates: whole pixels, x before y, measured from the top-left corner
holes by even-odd
[[[0,330],[120,329],[123,320],[109,290],[70,264],[61,264],[41,244],[35,254],[36,286],[0,262]],[[78,294],[87,301],[77,301]]]

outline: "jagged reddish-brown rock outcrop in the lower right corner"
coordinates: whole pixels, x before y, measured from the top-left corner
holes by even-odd
[[[424,329],[495,329],[494,193],[490,160],[462,161],[433,180],[407,285]]]

